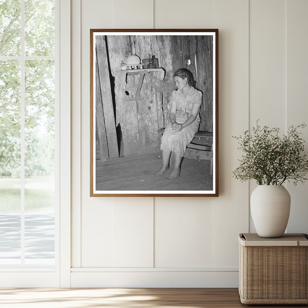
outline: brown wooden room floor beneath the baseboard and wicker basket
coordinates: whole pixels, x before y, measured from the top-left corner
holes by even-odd
[[[238,289],[0,289],[1,308],[243,308]],[[307,305],[253,305],[298,307]]]

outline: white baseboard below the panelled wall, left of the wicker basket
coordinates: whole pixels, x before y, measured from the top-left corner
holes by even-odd
[[[72,269],[73,270],[73,269]],[[71,288],[238,288],[238,271],[71,272]]]

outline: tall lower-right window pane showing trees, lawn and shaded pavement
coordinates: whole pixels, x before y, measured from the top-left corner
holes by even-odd
[[[55,63],[25,61],[25,265],[55,262]]]

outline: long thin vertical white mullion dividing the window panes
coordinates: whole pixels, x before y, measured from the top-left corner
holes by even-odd
[[[25,0],[21,0],[21,265],[25,265]]]

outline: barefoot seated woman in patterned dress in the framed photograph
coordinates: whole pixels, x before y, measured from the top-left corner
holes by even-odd
[[[178,89],[171,95],[170,122],[166,126],[160,145],[163,165],[156,172],[156,176],[161,176],[168,169],[170,154],[173,152],[175,164],[168,176],[169,179],[176,179],[180,175],[180,164],[186,147],[199,128],[202,103],[202,92],[194,88],[196,81],[191,71],[181,68],[174,73],[173,79]]]

